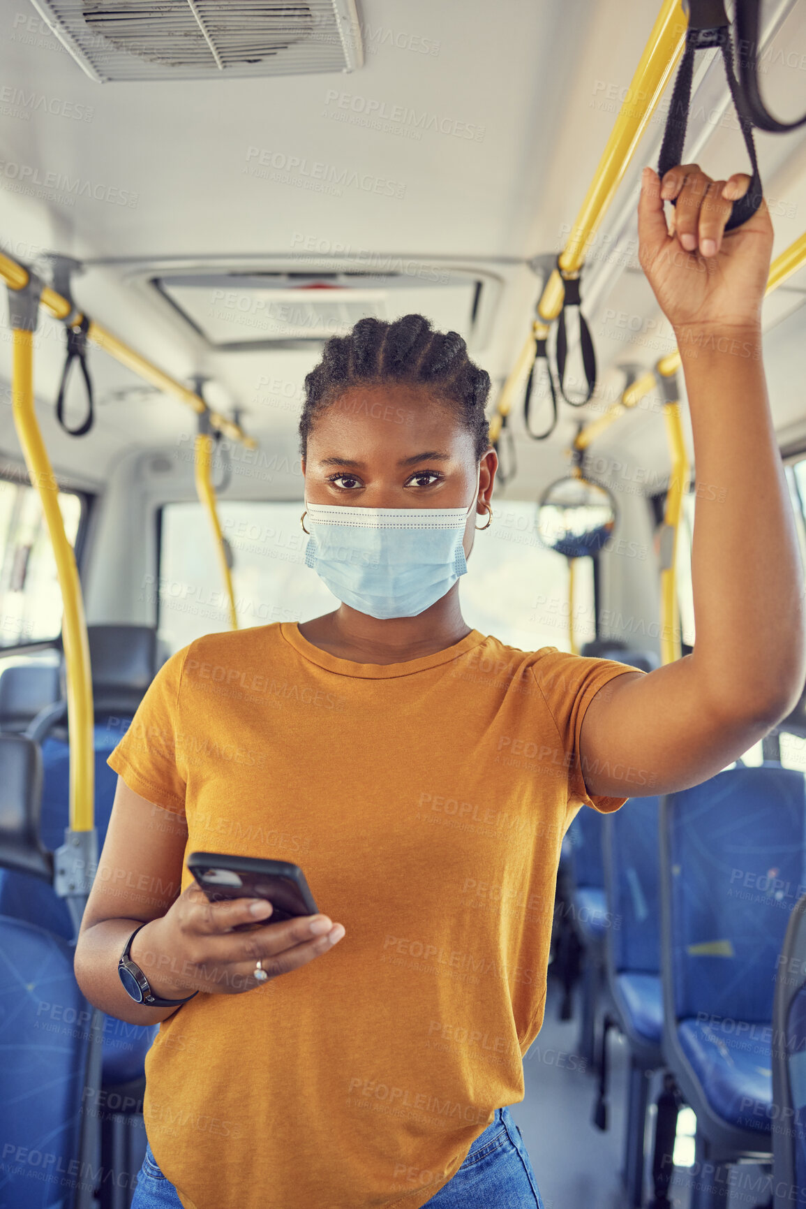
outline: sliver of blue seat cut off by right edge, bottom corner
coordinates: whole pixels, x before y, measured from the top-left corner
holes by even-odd
[[[775,1209],[789,1209],[806,1198],[806,895],[778,959],[772,1037]]]

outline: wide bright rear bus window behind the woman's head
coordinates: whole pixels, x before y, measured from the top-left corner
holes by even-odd
[[[303,508],[302,501],[219,499],[240,627],[305,621],[338,607],[305,566]],[[508,499],[475,538],[460,580],[463,613],[468,625],[510,646],[569,650],[568,579],[568,560],[540,543],[534,502]],[[579,648],[596,637],[591,559],[574,562],[573,613]],[[162,508],[157,624],[172,650],[228,629],[209,520],[197,502]]]

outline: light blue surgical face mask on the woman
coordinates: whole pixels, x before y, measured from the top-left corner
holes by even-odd
[[[464,575],[469,508],[353,508],[309,504],[307,567],[337,600],[370,617],[417,617]]]

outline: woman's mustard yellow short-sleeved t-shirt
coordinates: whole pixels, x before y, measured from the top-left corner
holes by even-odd
[[[576,758],[624,672],[479,630],[359,664],[296,623],[210,634],[161,667],[110,765],[185,815],[185,856],[294,861],[347,930],[161,1024],[145,1127],[185,1209],[419,1209],[523,1099],[562,837],[581,805],[626,800],[590,798]]]

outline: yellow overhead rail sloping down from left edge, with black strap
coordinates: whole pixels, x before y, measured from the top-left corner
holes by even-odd
[[[29,280],[35,278],[35,273],[29,272],[24,265],[17,264],[10,256],[0,253],[0,278],[6,283],[10,290],[22,290],[24,289]],[[10,295],[11,297],[11,295]],[[56,290],[47,285],[41,288],[40,305],[50,312],[52,318],[62,319],[68,323],[69,328],[80,328],[85,316],[76,312],[73,303],[58,294]],[[145,378],[152,386],[157,387],[158,391],[163,391],[166,394],[173,395],[174,399],[179,399],[180,403],[186,404],[192,407],[197,413],[207,412],[210,426],[218,432],[228,436],[230,440],[242,441],[247,449],[256,449],[257,442],[254,436],[248,436],[244,433],[240,424],[236,423],[233,420],[228,420],[226,416],[220,415],[218,411],[210,411],[203,399],[201,399],[193,391],[178,382],[176,378],[170,377],[169,374],[163,372],[157,365],[150,361],[146,357],[143,357],[129,345],[118,340],[117,336],[112,335],[94,319],[89,319],[86,324],[86,336],[88,340],[103,348],[104,352],[114,357],[116,361],[121,365],[126,365],[127,369],[132,370],[139,377]]]

